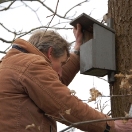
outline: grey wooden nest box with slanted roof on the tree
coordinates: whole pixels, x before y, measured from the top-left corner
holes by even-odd
[[[83,44],[80,47],[80,73],[105,76],[116,70],[115,32],[85,13],[70,22],[81,24]]]

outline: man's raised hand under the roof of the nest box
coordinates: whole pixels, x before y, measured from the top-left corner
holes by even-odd
[[[77,27],[73,29],[74,36],[76,38],[76,44],[74,49],[75,50],[80,50],[80,46],[83,42],[83,33],[82,33],[82,28],[80,24],[77,24]]]

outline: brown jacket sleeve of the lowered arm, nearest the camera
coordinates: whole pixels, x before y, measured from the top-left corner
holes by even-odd
[[[62,123],[70,123],[106,119],[106,115],[89,107],[76,96],[71,95],[70,90],[61,83],[57,73],[51,66],[40,58],[32,62],[20,79],[25,91],[35,104],[46,114],[57,117]],[[114,132],[114,123],[100,122],[78,125],[77,128],[89,132],[104,132],[106,124],[111,126]]]

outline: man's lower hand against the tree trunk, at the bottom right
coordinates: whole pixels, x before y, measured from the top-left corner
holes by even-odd
[[[116,120],[115,132],[132,132],[132,119],[129,119],[124,123],[123,120]]]

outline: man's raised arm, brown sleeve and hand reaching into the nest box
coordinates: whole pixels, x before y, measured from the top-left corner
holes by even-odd
[[[76,39],[75,46],[73,48],[73,50],[75,51],[80,51],[80,46],[82,45],[83,33],[81,30],[82,28],[80,24],[77,24],[76,27],[73,28],[73,33]],[[62,83],[68,86],[75,77],[75,75],[78,73],[79,69],[80,69],[79,54],[71,52],[69,61],[63,66],[61,78]]]

